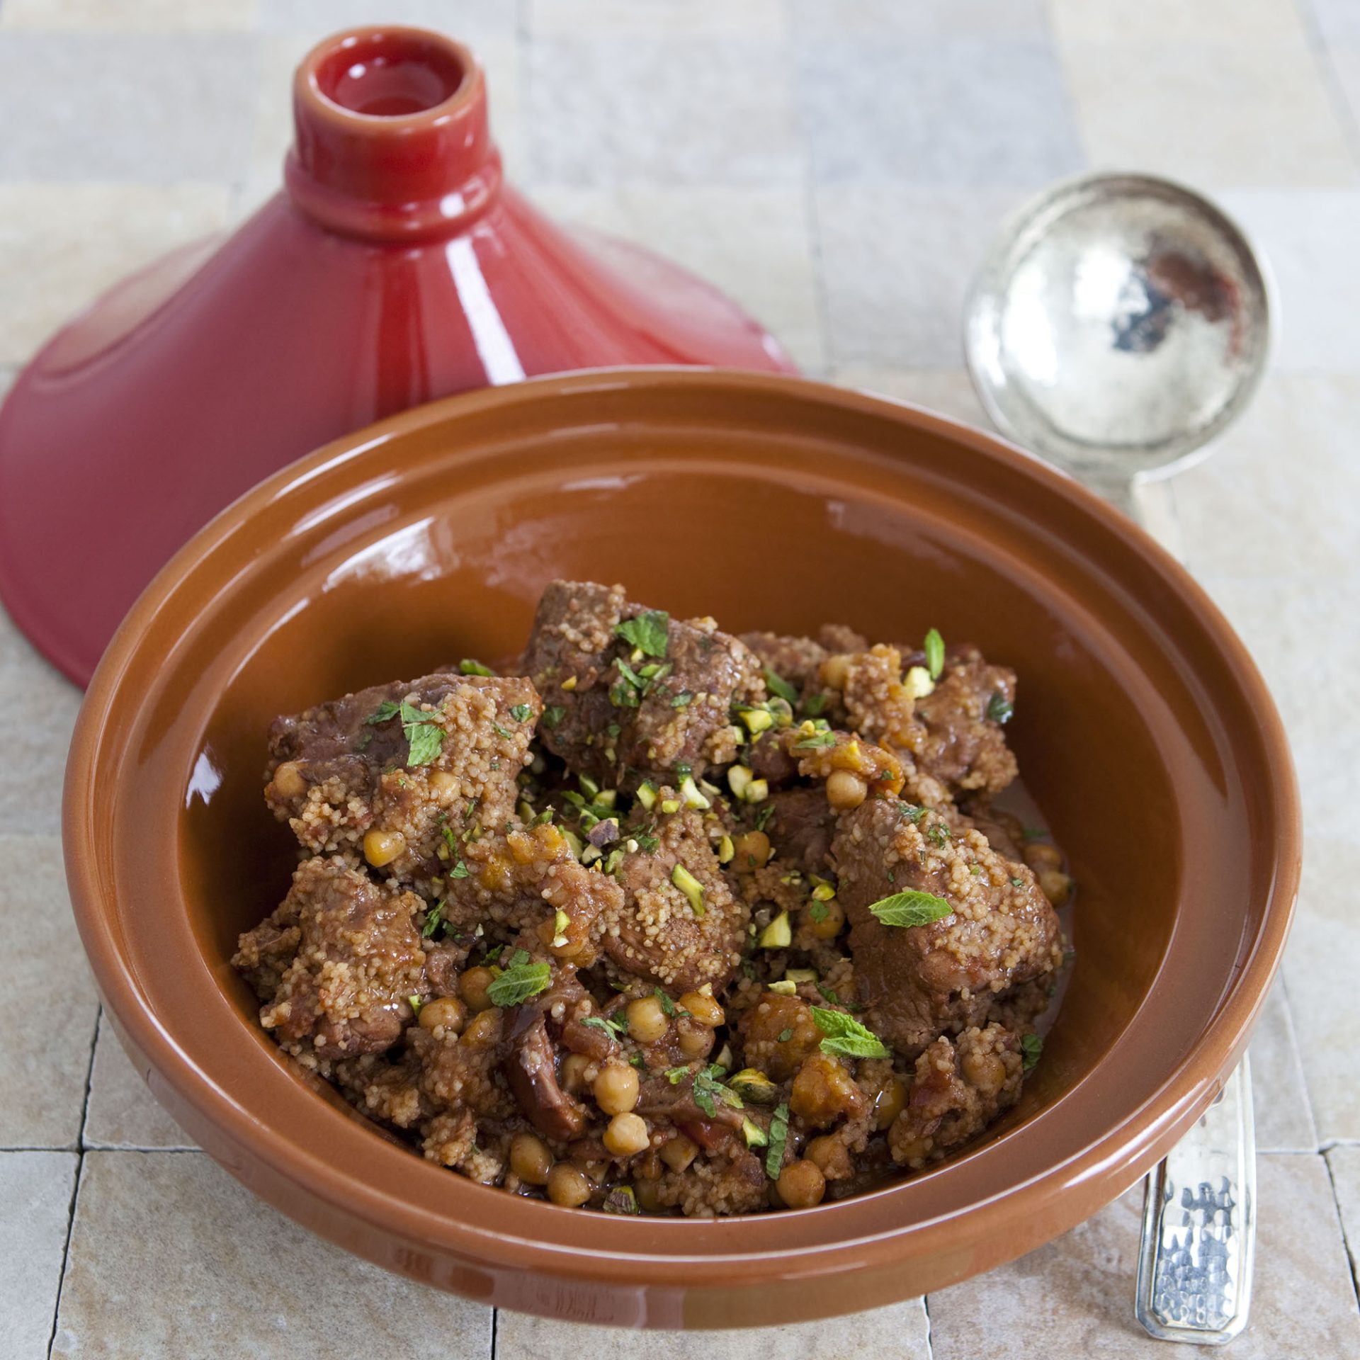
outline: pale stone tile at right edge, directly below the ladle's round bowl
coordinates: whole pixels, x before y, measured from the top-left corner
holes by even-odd
[[[1270,374],[1214,457],[1176,477],[1191,564],[1340,581],[1360,570],[1360,377]]]

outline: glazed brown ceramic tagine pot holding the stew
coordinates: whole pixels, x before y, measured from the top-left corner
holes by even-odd
[[[623,581],[733,631],[938,623],[1020,676],[1008,732],[1080,884],[1076,966],[1021,1103],[860,1198],[627,1219],[486,1189],[309,1085],[230,966],[283,896],[279,713],[515,651],[545,581]],[[332,443],[230,506],[99,665],[65,792],[72,899],[118,1034],[264,1198],[443,1289],[651,1327],[937,1289],[1137,1180],[1247,1043],[1299,881],[1261,677],[1132,524],[1001,441],[796,378],[615,370],[490,389]]]

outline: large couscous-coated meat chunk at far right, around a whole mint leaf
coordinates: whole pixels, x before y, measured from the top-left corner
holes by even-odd
[[[840,817],[831,854],[865,1023],[906,1057],[941,1032],[983,1024],[1005,993],[1062,962],[1058,918],[1034,874],[979,831],[952,832],[910,804],[866,801]],[[908,891],[942,898],[952,914],[902,928],[869,911]]]

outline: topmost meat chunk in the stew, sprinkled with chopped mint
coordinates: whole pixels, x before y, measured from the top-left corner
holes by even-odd
[[[732,703],[764,698],[760,665],[736,638],[711,619],[681,623],[630,604],[622,586],[555,581],[524,660],[544,696],[544,744],[609,786],[681,766],[698,778],[730,760]]]

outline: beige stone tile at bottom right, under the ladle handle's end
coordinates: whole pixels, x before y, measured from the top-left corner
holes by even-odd
[[[1263,1156],[1251,1321],[1234,1360],[1299,1353],[1342,1360],[1360,1353],[1360,1316],[1341,1225],[1322,1157]],[[1159,1360],[1202,1355],[1153,1341],[1133,1316],[1142,1187],[1057,1242],[990,1274],[933,1293],[934,1360],[1005,1355],[1017,1337],[1042,1337],[1043,1355]]]

